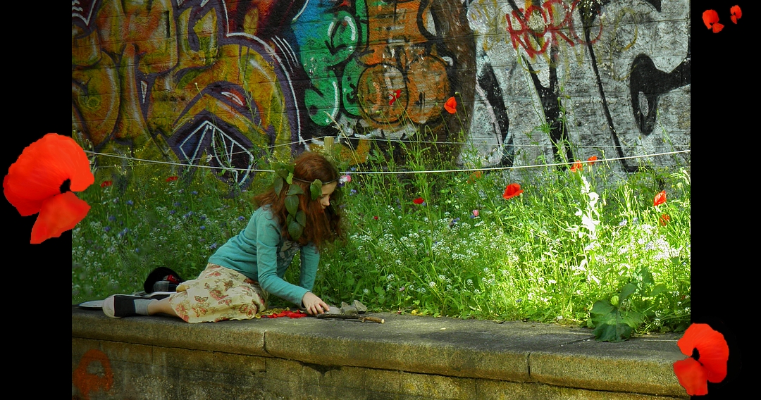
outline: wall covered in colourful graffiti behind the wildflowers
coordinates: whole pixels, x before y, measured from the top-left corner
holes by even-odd
[[[72,0],[72,130],[240,168],[333,137],[632,171],[689,149],[690,24],[689,0]]]

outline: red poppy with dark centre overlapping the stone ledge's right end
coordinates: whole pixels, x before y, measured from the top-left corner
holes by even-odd
[[[688,357],[673,363],[673,372],[688,395],[707,395],[708,382],[719,383],[727,376],[729,346],[708,324],[689,325],[677,346]]]

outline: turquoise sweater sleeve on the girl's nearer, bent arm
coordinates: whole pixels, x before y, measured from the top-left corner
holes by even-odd
[[[290,284],[278,276],[278,224],[269,218],[261,218],[256,224],[256,268],[262,289],[277,297],[301,306],[301,298],[307,293],[304,287]]]

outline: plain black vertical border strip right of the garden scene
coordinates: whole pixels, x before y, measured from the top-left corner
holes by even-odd
[[[739,5],[743,16],[732,23],[730,9]],[[730,348],[728,376],[721,383],[708,383],[708,395],[693,398],[744,398],[748,368],[743,354],[750,354],[751,326],[757,316],[750,294],[753,290],[752,224],[753,119],[756,81],[751,61],[758,26],[755,2],[747,0],[699,0],[692,2],[693,80],[692,110],[699,157],[693,166],[692,317],[724,335]],[[718,13],[724,28],[714,33],[702,20],[704,11]],[[757,129],[756,129],[757,132]],[[742,151],[743,143],[747,151]],[[712,148],[712,151],[705,151]],[[692,154],[693,156],[695,154]],[[694,158],[694,157],[693,157]],[[749,179],[750,178],[750,179]],[[745,189],[748,188],[748,189]],[[743,198],[751,204],[743,207]],[[747,362],[746,362],[747,364]]]

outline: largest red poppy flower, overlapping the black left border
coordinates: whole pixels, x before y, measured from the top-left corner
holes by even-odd
[[[27,146],[8,168],[2,187],[5,198],[21,214],[37,214],[30,243],[38,244],[72,229],[90,205],[72,192],[95,182],[90,160],[74,139],[49,133]]]

